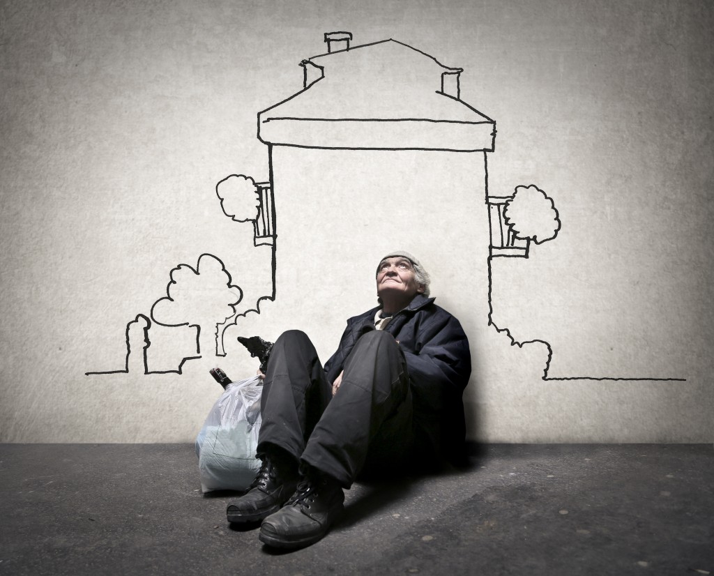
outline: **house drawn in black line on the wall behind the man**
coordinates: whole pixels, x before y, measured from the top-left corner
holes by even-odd
[[[492,239],[510,256],[519,248],[489,223],[503,204],[488,201],[496,122],[461,100],[460,68],[392,39],[351,46],[351,34],[336,32],[324,41],[326,54],[300,62],[301,89],[258,114],[277,215],[278,297],[268,315],[317,332],[326,359],[346,316],[376,305],[365,271],[403,248],[422,259],[437,303],[470,335],[478,384],[511,345],[488,325]],[[470,388],[467,405],[478,402],[478,385]]]

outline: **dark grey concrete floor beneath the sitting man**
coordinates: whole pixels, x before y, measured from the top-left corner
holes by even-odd
[[[193,445],[0,445],[0,574],[714,575],[712,445],[486,445],[272,552]]]

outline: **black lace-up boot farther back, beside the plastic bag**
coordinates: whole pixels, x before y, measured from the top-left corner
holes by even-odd
[[[280,510],[298,485],[297,463],[263,455],[261,469],[244,495],[226,508],[228,522],[260,522]]]

